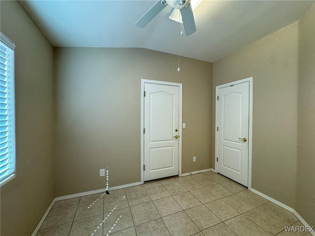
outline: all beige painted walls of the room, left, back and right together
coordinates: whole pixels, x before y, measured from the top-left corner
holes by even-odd
[[[183,83],[188,173],[214,168],[215,87],[253,76],[252,187],[315,225],[314,5],[213,72],[181,58],[178,73],[175,55],[146,49],[56,48],[56,83],[54,50],[20,3],[1,0],[0,13],[16,44],[17,136],[17,177],[0,189],[1,236],[31,235],[56,196],[104,188],[106,165],[110,186],[140,181],[142,78]]]

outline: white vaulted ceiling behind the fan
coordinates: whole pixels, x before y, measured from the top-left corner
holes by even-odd
[[[135,22],[155,0],[21,0],[57,47],[147,48],[177,55],[179,23],[166,6],[145,28]],[[180,36],[180,55],[214,62],[297,20],[314,0],[203,0],[196,32]]]

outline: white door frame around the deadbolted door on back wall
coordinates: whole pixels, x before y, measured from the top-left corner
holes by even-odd
[[[147,80],[141,79],[141,127],[140,127],[140,142],[141,142],[141,183],[144,183],[144,84],[156,84],[156,85],[168,85],[168,86],[177,86],[179,87],[179,149],[178,149],[178,175],[182,176],[182,98],[183,98],[183,84],[173,83],[173,82],[164,82],[158,80]]]

